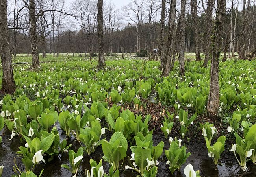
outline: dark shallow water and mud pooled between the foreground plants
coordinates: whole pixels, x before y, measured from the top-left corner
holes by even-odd
[[[57,125],[58,127],[58,125]],[[66,138],[63,135],[62,130],[58,128],[60,133],[60,138]],[[110,139],[111,134],[107,133],[105,138],[107,140]],[[1,134],[2,132],[0,132]],[[19,137],[15,136],[12,140],[8,140],[10,138],[11,133],[9,131],[4,131],[2,134],[3,141],[0,144],[0,165],[4,165],[4,172],[2,177],[10,177],[13,172],[13,158],[17,158],[17,166],[20,170],[24,170],[23,164],[21,162],[21,157],[18,157],[16,152],[19,150],[20,146],[24,146],[24,143],[20,142]],[[172,136],[172,135],[170,135]],[[174,137],[173,135],[172,137]],[[164,149],[169,148],[169,140],[164,138],[164,135],[161,133],[153,133],[153,141],[154,145],[157,145],[160,141],[164,141],[165,147]],[[76,150],[80,147],[79,143],[76,143],[74,138],[69,138],[69,143],[72,144],[72,149]],[[206,145],[202,144],[201,140],[187,140],[182,141],[182,145],[186,144],[187,152],[191,152],[191,155],[187,159],[186,163],[182,165],[181,171],[176,171],[174,175],[171,175],[168,165],[166,164],[167,159],[165,158],[164,153],[158,159],[160,164],[158,165],[158,177],[182,177],[184,176],[183,170],[185,166],[191,163],[194,167],[194,170],[200,170],[200,175],[202,177],[255,177],[256,176],[256,165],[253,165],[251,162],[247,162],[247,171],[241,170],[239,164],[236,162],[236,159],[232,153],[228,152],[229,147],[225,147],[225,151],[222,154],[221,165],[215,166],[210,157],[208,157],[208,151],[206,149]],[[130,156],[131,151],[128,149],[127,155]],[[103,156],[102,149],[98,147],[95,153],[92,155],[84,155],[83,160],[80,164],[80,170],[78,172],[78,177],[85,177],[85,169],[90,170],[89,160],[92,158],[97,162]],[[45,158],[46,159],[46,158]],[[46,161],[46,160],[45,160]],[[56,156],[54,160],[51,162],[47,162],[46,164],[40,163],[35,168],[35,173],[38,175],[41,169],[44,169],[42,177],[71,177],[72,174],[70,171],[60,167],[61,164],[69,165],[68,153],[60,154]],[[119,169],[120,177],[135,177],[138,175],[135,171],[125,170],[124,165],[129,165],[128,160],[125,159],[123,166]],[[104,172],[108,172],[109,164],[102,160],[102,165],[104,166]]]

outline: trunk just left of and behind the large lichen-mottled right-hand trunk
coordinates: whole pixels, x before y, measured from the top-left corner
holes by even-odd
[[[208,0],[207,1],[207,8],[205,10],[205,16],[206,16],[206,31],[205,31],[205,39],[204,39],[204,67],[207,67],[209,59],[211,59],[211,21],[212,21],[212,10],[214,5],[214,0]],[[202,1],[202,6],[203,1]]]

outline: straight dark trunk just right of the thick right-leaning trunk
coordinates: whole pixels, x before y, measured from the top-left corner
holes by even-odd
[[[180,6],[180,75],[185,75],[185,8],[186,0],[181,1]]]

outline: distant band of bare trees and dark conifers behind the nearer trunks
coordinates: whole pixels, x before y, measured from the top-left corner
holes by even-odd
[[[12,54],[31,53],[31,35],[28,25],[25,25],[28,22],[28,14],[25,11],[20,15],[21,11],[18,15],[17,11],[22,6],[22,1],[12,1],[17,1],[16,4],[19,4],[15,7],[18,10],[14,11],[13,15],[9,14],[11,48],[18,44],[15,50],[12,50]],[[165,2],[164,28],[168,28],[167,13],[172,1],[165,0]],[[176,2],[176,11],[180,9],[180,2]],[[160,48],[161,2],[159,0],[131,0],[130,4],[124,6],[122,10],[117,9],[115,4],[104,3],[104,53],[124,52],[122,50],[127,50],[128,53],[139,53],[141,49],[146,49],[153,54],[155,48]],[[215,17],[213,12],[216,6],[215,1],[190,0],[185,5],[184,51],[196,52],[197,59],[201,57],[198,53],[204,53],[208,61],[211,59],[210,33]],[[80,53],[81,55],[98,53],[96,6],[97,2],[91,0],[76,0],[70,8],[65,7],[62,0],[59,2],[35,1],[38,11],[55,7],[74,15],[68,16],[58,11],[54,14],[54,11],[47,11],[37,19],[39,53],[43,53],[43,57],[45,53]],[[239,57],[245,58],[254,51],[256,48],[255,14],[253,1],[232,0],[229,7],[226,7],[222,33],[224,40],[221,43],[225,57],[226,53],[228,56],[234,56],[234,52],[239,52]],[[181,29],[177,25],[179,18],[180,13],[176,13],[174,22],[177,31]],[[164,38],[167,36],[167,33],[163,35]],[[178,33],[177,39],[180,39]],[[180,46],[176,45],[176,47],[176,52],[179,52]]]

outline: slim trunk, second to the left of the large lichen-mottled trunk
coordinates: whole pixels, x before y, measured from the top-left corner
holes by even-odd
[[[197,0],[191,0],[190,1],[190,7],[191,7],[191,15],[193,18],[193,24],[195,25],[195,54],[196,54],[196,61],[201,61],[201,55],[198,47],[199,42],[199,35],[198,35],[198,16],[197,16]]]

